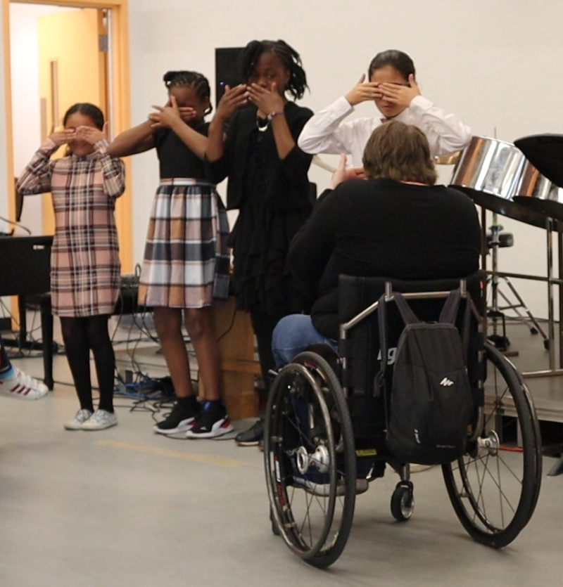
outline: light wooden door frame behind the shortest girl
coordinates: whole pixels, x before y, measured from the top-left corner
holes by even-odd
[[[2,34],[4,39],[4,103],[6,117],[6,165],[8,213],[10,219],[15,217],[15,198],[13,185],[13,128],[12,128],[12,84],[10,56],[10,4],[51,4],[68,6],[68,8],[110,8],[111,10],[111,67],[112,67],[112,105],[114,136],[130,126],[131,112],[129,89],[129,22],[127,0],[1,0]],[[31,155],[31,154],[30,154]],[[127,185],[130,186],[131,166],[125,160]],[[120,257],[122,271],[128,273],[133,269],[132,246],[132,203],[130,187],[118,200],[120,213],[118,232],[120,238]]]

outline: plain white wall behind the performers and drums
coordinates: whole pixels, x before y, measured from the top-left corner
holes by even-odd
[[[165,101],[166,70],[201,70],[213,87],[216,47],[281,38],[301,53],[311,89],[302,103],[313,110],[347,91],[375,53],[393,48],[415,60],[424,95],[455,112],[474,134],[496,131],[498,138],[514,141],[527,134],[563,133],[559,0],[533,6],[514,0],[129,0],[129,22],[135,124],[151,104]],[[364,104],[355,115],[372,113],[374,107]],[[0,132],[3,126],[4,120]],[[5,167],[5,158],[1,161]],[[137,155],[133,165],[132,238],[139,262],[158,182],[156,155]],[[320,169],[310,176],[321,188],[327,183],[328,174]],[[0,201],[0,211],[3,207]],[[501,269],[545,274],[545,233],[510,219],[502,224],[514,233],[516,245],[501,251]],[[545,287],[515,284],[533,311],[545,316]]]

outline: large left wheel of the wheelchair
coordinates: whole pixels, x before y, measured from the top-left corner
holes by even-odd
[[[329,363],[305,352],[272,383],[264,458],[273,521],[315,567],[341,555],[355,505],[355,446],[342,387]]]

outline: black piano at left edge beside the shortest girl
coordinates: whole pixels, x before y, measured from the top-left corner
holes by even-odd
[[[53,389],[53,315],[51,314],[52,236],[0,237],[0,296],[17,295],[19,344],[26,346],[26,297],[37,296],[41,311],[44,382]],[[6,342],[6,341],[4,341]]]

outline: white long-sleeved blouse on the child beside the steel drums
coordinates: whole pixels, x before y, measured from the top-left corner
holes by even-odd
[[[381,119],[356,118],[350,122],[342,122],[353,110],[348,100],[341,96],[308,120],[298,138],[298,146],[305,153],[346,153],[352,155],[353,165],[362,165],[367,140],[381,124]],[[434,156],[455,153],[467,146],[472,138],[469,127],[424,96],[415,96],[408,108],[393,120],[414,124],[421,129],[428,138],[431,154]]]

